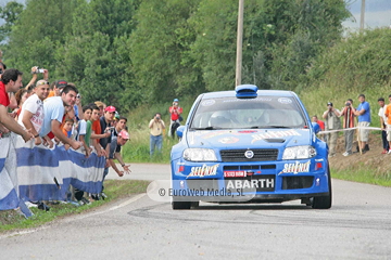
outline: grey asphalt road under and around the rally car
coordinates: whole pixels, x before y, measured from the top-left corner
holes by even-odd
[[[167,165],[131,169],[124,179],[169,176]],[[2,235],[0,259],[391,259],[391,188],[332,184],[329,210],[299,202],[172,210],[140,194]]]

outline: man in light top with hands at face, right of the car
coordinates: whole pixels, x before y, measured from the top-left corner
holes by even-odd
[[[336,146],[338,139],[338,131],[341,128],[340,117],[341,112],[332,106],[331,102],[327,103],[327,110],[323,114],[325,119],[326,131],[332,131],[327,133],[327,144],[329,146],[329,157],[336,156]]]

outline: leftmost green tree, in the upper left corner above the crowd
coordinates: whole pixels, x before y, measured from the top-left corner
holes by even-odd
[[[81,2],[84,0],[28,0],[12,26],[4,51],[8,65],[24,72],[37,65],[54,76],[55,50],[71,32],[73,13]]]

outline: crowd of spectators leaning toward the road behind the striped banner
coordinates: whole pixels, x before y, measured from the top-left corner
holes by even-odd
[[[46,154],[46,151],[59,146],[64,151],[72,147],[75,153],[83,153],[83,161],[90,159],[89,164],[96,166],[94,173],[100,177],[101,186],[90,193],[89,188],[84,188],[83,185],[71,184],[65,192],[66,202],[85,205],[104,199],[106,195],[103,182],[109,168],[112,167],[119,177],[130,172],[129,165],[124,162],[121,155],[122,146],[129,140],[127,118],[121,116],[115,106],[101,101],[83,104],[77,87],[66,80],[50,83],[48,69],[33,67],[33,77],[26,87],[22,86],[24,75],[20,70],[7,69],[7,66],[0,63],[0,190],[3,190],[0,191],[0,210],[13,207],[9,205],[11,193],[23,198],[17,205],[20,207],[25,204],[49,210],[46,200],[50,196],[37,196],[28,188],[22,196],[18,190],[16,169],[26,158],[36,158],[37,148],[40,148],[39,153]],[[42,74],[43,79],[37,81],[39,74]],[[119,162],[121,168],[114,159]],[[48,158],[46,160],[48,164],[51,161]],[[31,183],[42,181],[42,174],[38,174],[45,169],[37,169],[37,174],[30,177]],[[58,186],[61,184],[56,177],[51,182]],[[13,187],[10,194],[4,192],[4,183]]]

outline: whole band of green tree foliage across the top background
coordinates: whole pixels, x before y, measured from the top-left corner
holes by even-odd
[[[8,65],[46,67],[88,102],[127,110],[235,86],[237,1],[27,0],[0,11]],[[242,82],[302,84],[348,16],[342,0],[247,0]]]

